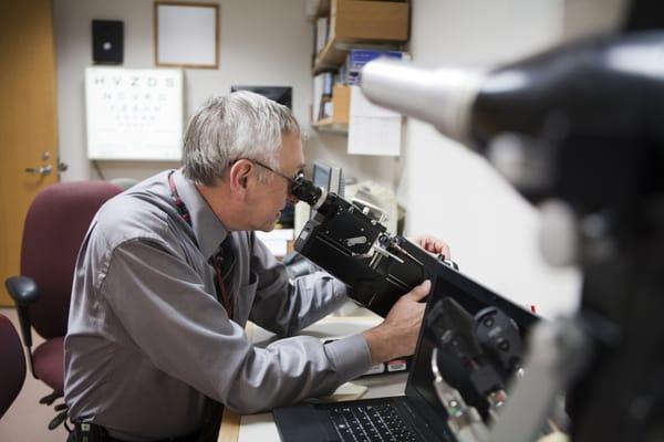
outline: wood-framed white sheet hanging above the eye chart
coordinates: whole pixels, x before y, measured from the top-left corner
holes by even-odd
[[[155,64],[219,67],[219,6],[155,1]]]

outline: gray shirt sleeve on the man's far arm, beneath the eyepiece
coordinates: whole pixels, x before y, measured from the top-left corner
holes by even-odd
[[[289,282],[286,266],[253,236],[251,271],[258,288],[249,318],[279,335],[292,336],[347,301],[346,285],[325,272]]]

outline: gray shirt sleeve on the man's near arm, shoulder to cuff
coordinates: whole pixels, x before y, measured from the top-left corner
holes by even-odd
[[[156,368],[242,413],[330,393],[371,365],[361,335],[328,346],[293,337],[253,347],[200,276],[158,239],[114,249],[100,292]]]

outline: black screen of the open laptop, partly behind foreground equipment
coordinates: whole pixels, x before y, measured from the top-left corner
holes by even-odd
[[[430,298],[427,302],[425,315],[429,314],[436,303],[449,296],[470,315],[475,315],[480,309],[489,306],[500,308],[517,323],[521,337],[525,337],[527,330],[537,320],[537,317],[526,309],[448,267],[439,266],[437,275],[432,282],[434,286]],[[434,427],[436,433],[446,434],[448,433],[446,425],[447,413],[436,394],[434,375],[432,372],[430,360],[435,345],[435,338],[429,333],[427,322],[425,320],[419,333],[419,341],[417,343],[411,375],[406,385],[406,397],[417,411],[424,414],[426,420]],[[475,407],[486,419],[488,402],[477,392],[470,382],[468,370],[455,358],[444,352],[439,352],[438,367],[445,381],[459,390],[466,402]]]

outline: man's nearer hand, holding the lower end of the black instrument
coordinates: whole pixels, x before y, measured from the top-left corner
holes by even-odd
[[[428,295],[432,283],[425,281],[403,295],[385,320],[363,333],[371,351],[372,364],[385,362],[415,352],[419,326],[426,304],[419,301]]]

